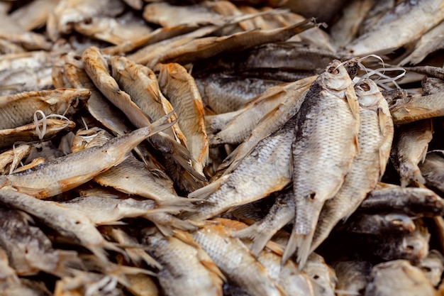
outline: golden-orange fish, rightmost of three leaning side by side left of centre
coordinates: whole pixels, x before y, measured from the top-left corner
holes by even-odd
[[[204,175],[204,166],[209,157],[206,136],[204,106],[194,78],[179,64],[158,64],[160,89],[170,100],[180,120],[179,127],[187,138],[187,147],[192,155],[193,168]]]

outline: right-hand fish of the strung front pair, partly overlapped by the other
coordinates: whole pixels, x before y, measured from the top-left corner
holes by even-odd
[[[372,80],[355,85],[360,104],[359,153],[353,160],[339,192],[324,204],[311,243],[314,251],[340,219],[355,212],[367,193],[384,175],[394,135],[389,106]],[[359,224],[359,222],[357,222]]]

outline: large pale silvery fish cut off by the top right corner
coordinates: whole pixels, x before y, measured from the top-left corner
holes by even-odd
[[[416,40],[444,19],[444,1],[402,1],[372,26],[371,31],[360,35],[345,46],[353,55],[387,53]],[[411,21],[412,19],[416,21]],[[383,34],[381,32],[384,31]]]

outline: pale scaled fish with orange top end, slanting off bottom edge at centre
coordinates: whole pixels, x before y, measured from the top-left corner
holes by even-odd
[[[231,231],[223,226],[223,223],[228,223],[225,220],[206,222],[199,231],[192,233],[194,241],[201,245],[229,282],[248,294],[284,295],[242,241],[231,237]]]

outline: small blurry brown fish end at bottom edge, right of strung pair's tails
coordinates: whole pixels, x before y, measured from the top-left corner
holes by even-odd
[[[336,295],[362,295],[367,287],[368,276],[372,270],[372,264],[368,261],[348,259],[332,263],[338,283]]]

